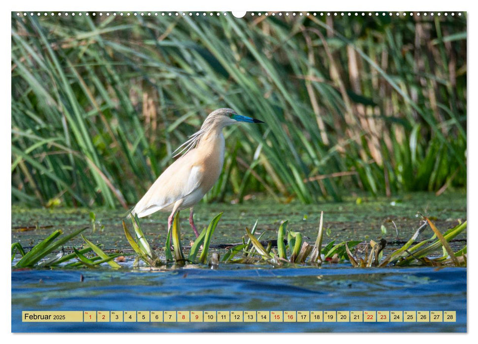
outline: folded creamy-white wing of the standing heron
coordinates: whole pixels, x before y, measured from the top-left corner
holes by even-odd
[[[133,214],[138,217],[147,216],[194,192],[204,177],[202,166],[194,164],[194,153],[191,151],[182,156],[162,172],[136,204]]]

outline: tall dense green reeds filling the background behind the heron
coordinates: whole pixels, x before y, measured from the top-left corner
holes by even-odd
[[[466,187],[466,14],[12,14],[12,202],[135,203],[220,107],[207,200]]]

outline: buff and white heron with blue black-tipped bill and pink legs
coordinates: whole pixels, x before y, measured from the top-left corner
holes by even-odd
[[[264,123],[231,109],[213,111],[201,129],[176,149],[182,148],[177,155],[184,154],[161,173],[131,213],[144,217],[157,211],[170,212],[169,230],[176,212],[190,208],[189,223],[197,237],[199,232],[192,218],[194,205],[218,180],[224,163],[223,128],[237,122]]]

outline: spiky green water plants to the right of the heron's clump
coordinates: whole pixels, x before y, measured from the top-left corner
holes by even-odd
[[[264,260],[273,265],[283,265],[284,263],[308,263],[308,264],[321,264],[324,261],[330,262],[344,262],[349,260],[352,266],[355,267],[384,267],[387,265],[427,265],[427,266],[466,266],[467,262],[467,249],[464,248],[457,252],[453,252],[448,244],[448,241],[456,237],[463,230],[466,229],[466,221],[460,223],[452,229],[448,229],[442,234],[430,219],[425,218],[425,223],[416,230],[414,235],[408,240],[402,247],[394,250],[389,255],[383,257],[383,249],[386,247],[386,240],[381,239],[376,242],[371,240],[369,243],[365,243],[365,248],[361,245],[361,252],[365,252],[363,257],[357,257],[352,254],[351,249],[356,247],[361,241],[344,241],[339,244],[335,244],[335,240],[330,241],[327,245],[322,247],[322,233],[323,233],[323,212],[320,214],[319,233],[316,243],[311,247],[307,242],[303,241],[302,235],[299,232],[291,230],[287,231],[287,246],[284,235],[286,232],[287,221],[284,222],[278,230],[277,236],[277,251],[274,249],[264,248],[262,243],[246,229],[246,234],[251,240],[255,252],[249,252],[248,257],[240,259],[233,259],[235,254],[238,253],[238,248],[233,247],[225,255],[223,261],[235,262],[235,263],[251,263]],[[418,235],[429,225],[433,230],[434,235],[429,238],[411,245],[415,242]],[[270,243],[270,242],[269,242]],[[239,249],[242,245],[239,246]],[[287,258],[287,249],[289,256]],[[368,251],[370,253],[368,254]],[[435,254],[437,251],[443,250],[444,254],[438,258],[430,258],[430,255]],[[358,250],[356,250],[358,253]],[[255,259],[251,259],[251,256],[256,256]],[[309,259],[307,259],[309,258]]]

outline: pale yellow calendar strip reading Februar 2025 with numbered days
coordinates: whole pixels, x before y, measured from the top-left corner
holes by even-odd
[[[456,311],[23,311],[23,322],[456,322]]]

